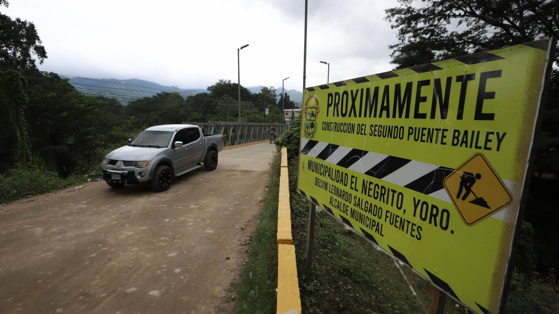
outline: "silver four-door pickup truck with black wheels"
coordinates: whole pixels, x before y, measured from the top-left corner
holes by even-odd
[[[148,127],[126,146],[103,159],[101,172],[110,187],[149,183],[155,191],[167,191],[174,177],[200,168],[217,167],[223,136],[202,134],[197,125],[171,124]]]

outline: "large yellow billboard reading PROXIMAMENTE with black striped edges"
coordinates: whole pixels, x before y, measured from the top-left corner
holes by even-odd
[[[305,88],[297,192],[471,311],[499,313],[554,47]]]

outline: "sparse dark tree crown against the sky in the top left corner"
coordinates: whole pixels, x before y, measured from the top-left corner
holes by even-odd
[[[8,6],[0,0],[0,6]],[[42,64],[47,58],[35,25],[20,18],[0,13],[0,70],[36,68],[35,59]]]

